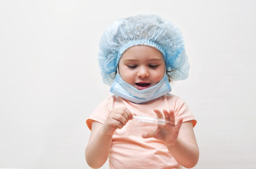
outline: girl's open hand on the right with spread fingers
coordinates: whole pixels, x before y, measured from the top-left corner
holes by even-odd
[[[142,134],[143,138],[155,138],[159,139],[161,142],[164,142],[166,146],[174,146],[178,139],[178,132],[181,129],[181,125],[183,123],[183,118],[178,119],[178,123],[175,123],[175,116],[173,111],[164,110],[163,113],[161,111],[154,109],[154,113],[157,114],[157,118],[164,118],[164,120],[169,121],[165,125],[158,125],[157,130],[152,132],[147,132]]]

